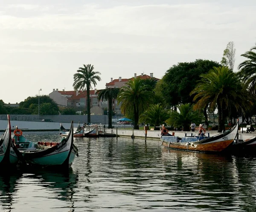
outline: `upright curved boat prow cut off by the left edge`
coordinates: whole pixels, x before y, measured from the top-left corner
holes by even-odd
[[[0,139],[0,166],[9,166],[10,162],[10,146],[11,146],[11,124],[10,117],[7,115],[8,125],[3,138]]]

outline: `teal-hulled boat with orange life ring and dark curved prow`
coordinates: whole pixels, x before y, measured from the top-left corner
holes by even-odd
[[[20,160],[28,165],[40,167],[69,168],[78,149],[73,144],[73,121],[67,137],[61,142],[32,142],[22,135],[22,131],[16,129],[12,138],[14,151],[21,155]]]

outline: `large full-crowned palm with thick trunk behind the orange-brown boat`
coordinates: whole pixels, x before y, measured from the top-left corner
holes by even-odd
[[[240,109],[245,104],[244,93],[239,76],[229,70],[228,67],[213,67],[207,74],[201,75],[201,80],[192,90],[190,95],[195,94],[194,109],[201,110],[209,104],[209,110],[216,105],[218,109],[218,132],[225,130],[225,110],[230,105]]]

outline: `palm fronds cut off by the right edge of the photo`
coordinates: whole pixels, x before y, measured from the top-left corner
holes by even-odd
[[[244,86],[248,89],[249,93],[256,97],[256,46],[245,52],[241,56],[247,58],[244,62],[239,64],[239,75],[244,81]]]

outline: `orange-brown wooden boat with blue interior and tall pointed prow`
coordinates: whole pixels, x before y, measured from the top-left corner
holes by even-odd
[[[166,148],[174,148],[185,151],[222,152],[236,139],[238,133],[238,121],[228,131],[214,136],[161,136],[161,145]]]

